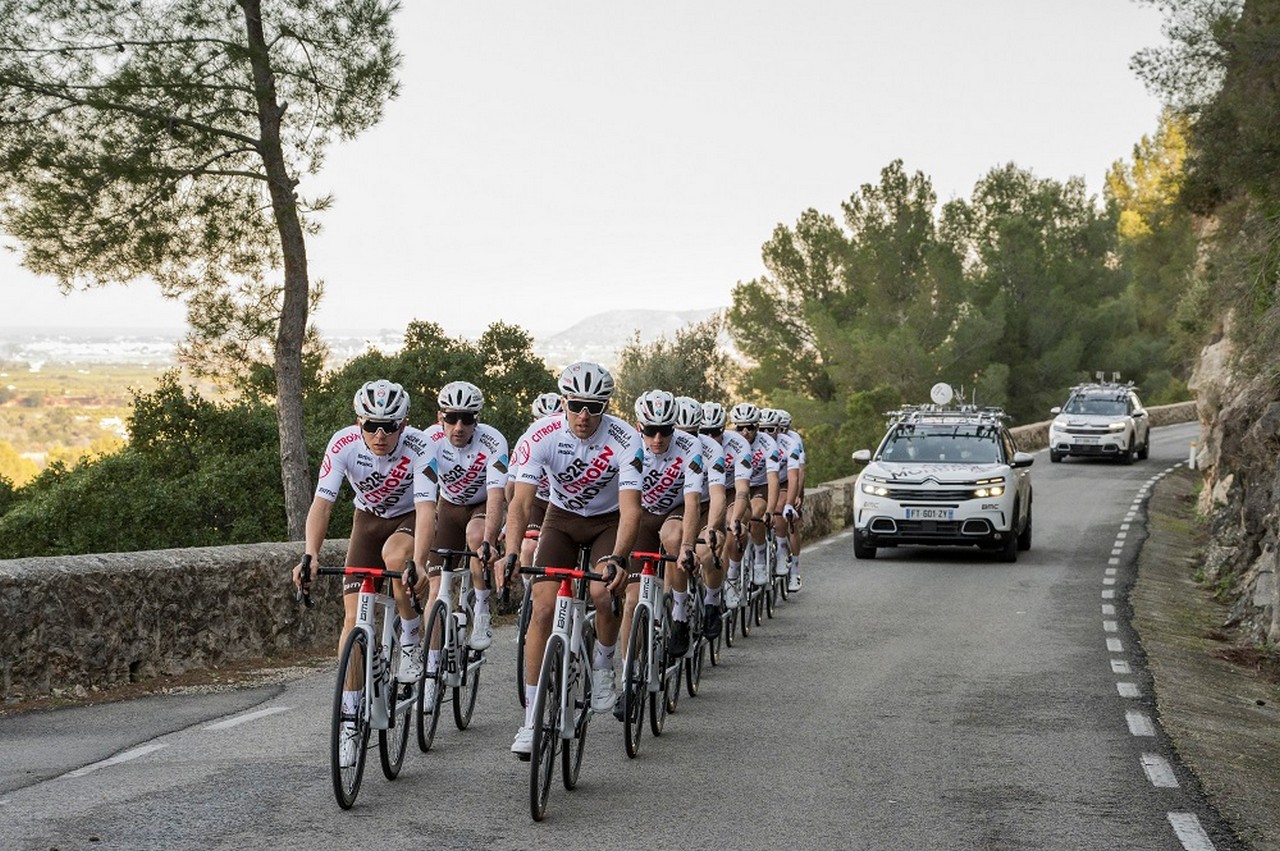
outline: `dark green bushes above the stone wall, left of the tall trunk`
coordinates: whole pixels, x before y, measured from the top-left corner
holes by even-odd
[[[51,463],[0,514],[0,558],[276,540],[284,527],[275,421],[214,403],[174,374],[134,397],[133,441]]]

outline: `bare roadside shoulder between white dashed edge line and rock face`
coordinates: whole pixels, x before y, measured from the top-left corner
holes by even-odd
[[[1245,845],[1280,851],[1280,665],[1225,626],[1228,608],[1194,578],[1206,543],[1196,481],[1179,468],[1153,490],[1133,626],[1179,756]]]

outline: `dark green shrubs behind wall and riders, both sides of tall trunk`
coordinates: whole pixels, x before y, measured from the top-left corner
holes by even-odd
[[[362,354],[317,378],[306,394],[307,458],[355,421],[351,399],[370,378],[404,384],[410,421],[435,421],[435,394],[466,378],[485,392],[484,420],[517,435],[534,397],[556,384],[532,339],[495,324],[476,342],[412,322],[394,356]],[[218,402],[184,389],[175,375],[138,392],[129,444],[91,463],[54,463],[14,490],[0,477],[0,558],[209,546],[285,539],[275,411],[244,394]],[[351,500],[339,500],[330,534],[351,529]]]

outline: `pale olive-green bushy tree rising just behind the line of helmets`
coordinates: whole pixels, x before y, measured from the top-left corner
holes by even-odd
[[[630,420],[636,397],[652,389],[727,402],[732,361],[721,340],[723,329],[724,317],[716,315],[680,329],[673,340],[641,343],[637,331],[618,354],[614,412]]]

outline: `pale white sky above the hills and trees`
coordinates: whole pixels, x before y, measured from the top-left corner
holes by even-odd
[[[1106,169],[1152,133],[1133,0],[406,0],[401,97],[303,192],[321,329],[535,334],[727,305],[778,223],[901,157],[941,201],[991,168]],[[0,255],[0,326],[182,328],[138,283],[63,297]]]

